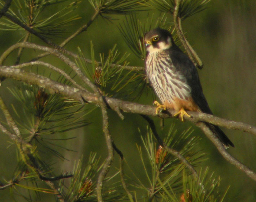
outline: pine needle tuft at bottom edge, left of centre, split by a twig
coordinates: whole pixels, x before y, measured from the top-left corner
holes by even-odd
[[[83,165],[82,161],[78,161],[74,167],[73,173],[75,174],[69,182],[69,187],[64,190],[62,194],[65,195],[65,201],[70,202],[82,202],[90,201],[96,202],[96,182],[97,175],[103,165],[99,165],[99,159],[96,157],[96,153],[90,153],[86,165]],[[104,201],[123,201],[125,196],[122,193],[120,182],[115,182],[117,174],[107,177],[104,180]],[[65,184],[65,180],[60,182],[60,186]]]

